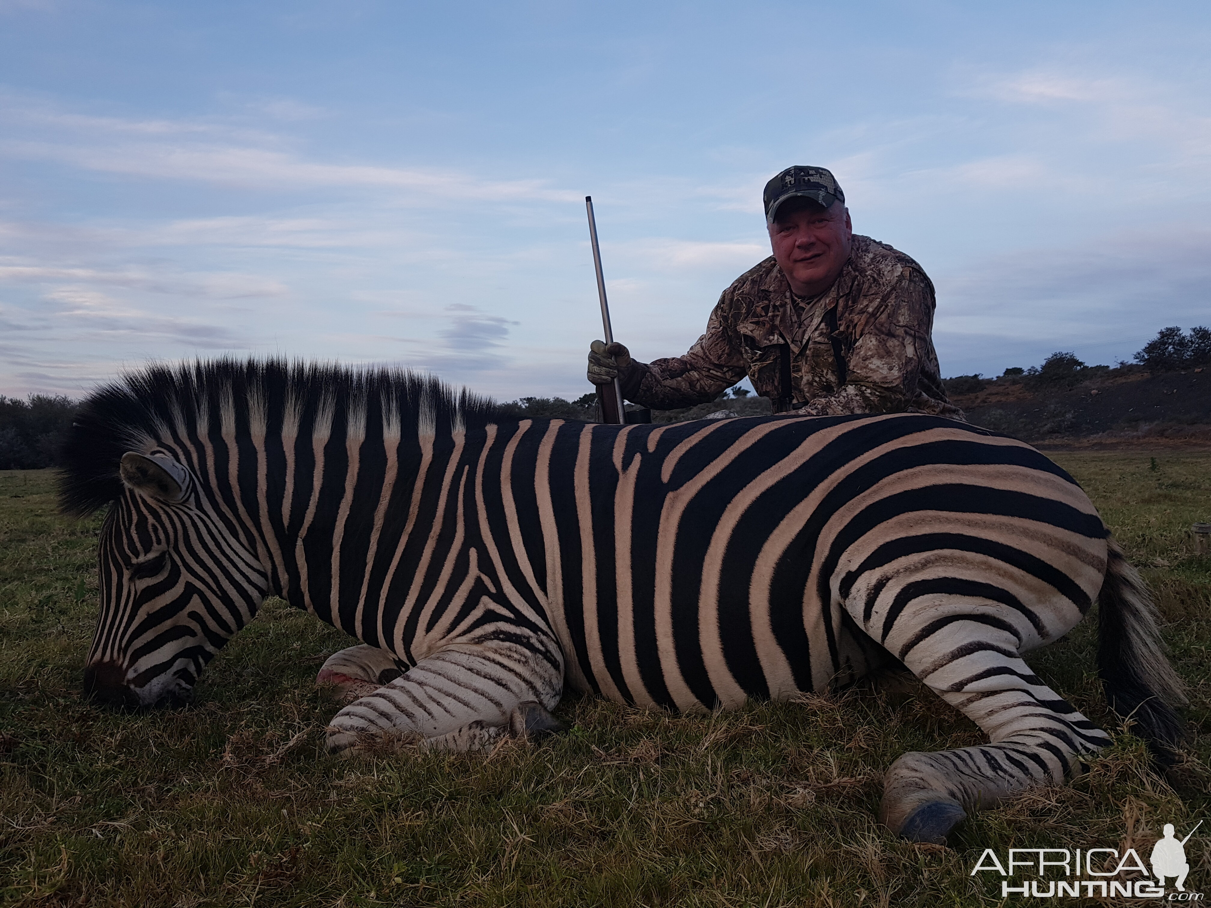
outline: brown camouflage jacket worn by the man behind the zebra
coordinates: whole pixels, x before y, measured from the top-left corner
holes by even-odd
[[[771,255],[723,292],[689,352],[632,363],[619,377],[622,395],[654,409],[690,407],[747,375],[775,413],[963,419],[942,389],[934,306],[920,265],[867,236],[854,236],[840,275],[811,299],[791,292]]]

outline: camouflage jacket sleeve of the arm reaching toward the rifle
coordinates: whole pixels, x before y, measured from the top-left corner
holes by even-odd
[[[746,374],[737,337],[723,312],[727,293],[706,323],[706,333],[684,356],[637,362],[622,377],[622,396],[658,410],[713,401]]]

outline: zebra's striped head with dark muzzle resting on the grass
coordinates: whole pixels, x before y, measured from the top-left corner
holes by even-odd
[[[85,691],[131,708],[182,705],[256,614],[268,579],[173,456],[127,452],[120,472],[101,534],[101,617]]]

